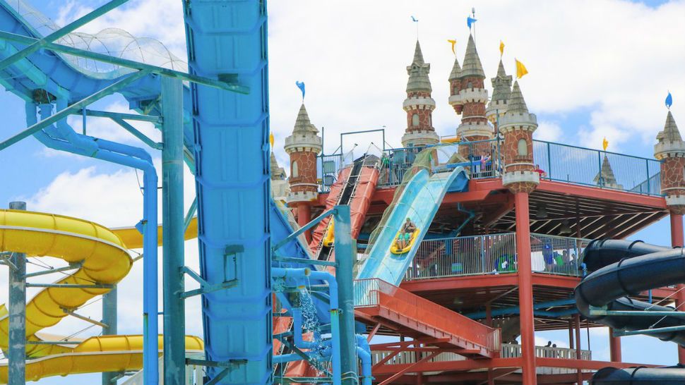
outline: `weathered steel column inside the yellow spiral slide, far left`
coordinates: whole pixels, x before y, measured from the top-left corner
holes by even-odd
[[[9,208],[25,210],[26,202],[10,202]],[[9,268],[8,385],[26,382],[26,255],[14,252]]]

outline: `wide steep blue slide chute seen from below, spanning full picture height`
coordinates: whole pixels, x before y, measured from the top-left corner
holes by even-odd
[[[206,367],[223,384],[270,384],[272,314],[268,54],[265,0],[186,0],[194,75],[249,94],[191,84],[201,276],[237,286],[202,298]],[[232,365],[230,365],[232,364]]]

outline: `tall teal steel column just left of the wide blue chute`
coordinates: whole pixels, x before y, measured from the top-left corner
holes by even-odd
[[[164,276],[164,383],[185,382],[183,84],[162,78],[162,265]]]

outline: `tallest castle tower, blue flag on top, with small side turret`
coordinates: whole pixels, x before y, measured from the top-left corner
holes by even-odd
[[[485,73],[476,50],[476,43],[473,41],[473,36],[469,35],[466,55],[460,71],[459,97],[450,99],[450,104],[455,107],[457,114],[459,114],[459,109],[461,110],[461,124],[457,128],[457,135],[464,140],[492,139],[492,126],[488,124],[485,117],[487,90],[484,80]],[[455,94],[455,90],[451,90],[451,94]],[[460,103],[460,106],[457,103]]]

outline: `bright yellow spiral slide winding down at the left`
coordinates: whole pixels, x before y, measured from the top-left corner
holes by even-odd
[[[195,222],[196,223],[196,222]],[[134,229],[133,229],[134,230]],[[193,235],[189,228],[186,232]],[[141,247],[131,229],[120,229],[131,240],[128,247]],[[196,234],[196,232],[194,233]],[[192,238],[192,237],[189,237]],[[161,240],[161,237],[160,237]],[[0,252],[24,252],[31,257],[58,257],[81,267],[56,283],[118,283],[129,273],[133,261],[121,238],[90,221],[39,212],[0,210]],[[26,305],[26,339],[40,341],[36,334],[66,317],[64,310],[85,305],[109,289],[45,288]],[[9,317],[0,308],[0,348],[8,348]],[[72,340],[73,341],[73,340]],[[162,338],[159,338],[160,350]],[[201,352],[200,338],[186,336],[186,350]],[[29,344],[26,354],[34,360],[26,365],[26,378],[54,375],[137,370],[143,366],[142,336],[100,336],[73,345]],[[7,367],[0,365],[0,384],[7,382]]]

